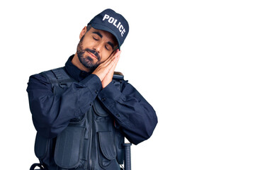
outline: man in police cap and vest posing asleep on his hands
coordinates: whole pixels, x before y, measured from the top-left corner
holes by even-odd
[[[106,9],[81,30],[77,52],[62,69],[30,76],[35,154],[42,167],[120,169],[124,137],[137,145],[152,135],[152,106],[128,81],[113,80],[128,31],[125,18]]]

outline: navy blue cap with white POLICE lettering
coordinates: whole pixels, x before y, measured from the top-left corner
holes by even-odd
[[[116,13],[110,8],[92,18],[88,23],[89,25],[97,30],[106,30],[113,34],[116,40],[118,40],[119,49],[129,32],[129,24],[126,19],[120,13]]]

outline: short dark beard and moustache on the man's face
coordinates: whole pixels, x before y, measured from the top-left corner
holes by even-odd
[[[81,62],[81,64],[84,65],[84,67],[94,70],[100,64],[101,57],[98,54],[98,52],[96,52],[95,50],[92,50],[89,48],[84,49],[83,38],[84,38],[84,36],[81,38],[81,40],[77,46],[77,55],[78,55],[79,61]],[[94,61],[95,59],[91,58],[91,56],[85,55],[85,52],[90,52],[90,53],[94,54],[97,57],[97,61]]]

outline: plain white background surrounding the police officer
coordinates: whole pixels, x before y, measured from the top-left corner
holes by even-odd
[[[0,169],[29,169],[28,77],[61,67],[105,8],[130,33],[116,70],[159,123],[132,169],[277,169],[275,1],[1,1]]]

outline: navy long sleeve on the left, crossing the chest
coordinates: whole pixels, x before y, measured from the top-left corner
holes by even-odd
[[[56,137],[67,127],[69,120],[79,118],[89,110],[101,87],[100,79],[91,74],[56,96],[45,77],[41,74],[31,76],[27,92],[35,129],[45,137]]]

